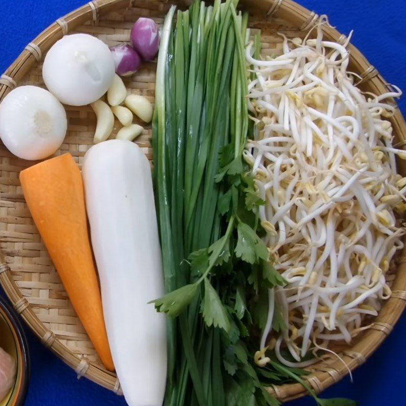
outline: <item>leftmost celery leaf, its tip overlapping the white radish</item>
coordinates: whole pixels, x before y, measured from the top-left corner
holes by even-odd
[[[155,309],[160,313],[166,313],[171,317],[179,316],[195,297],[198,286],[195,283],[182,286],[149,303],[154,303]]]

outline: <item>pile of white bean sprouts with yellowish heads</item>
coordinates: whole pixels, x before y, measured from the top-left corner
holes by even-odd
[[[386,275],[404,230],[406,178],[396,173],[388,98],[355,86],[344,45],[317,38],[288,40],[283,54],[253,58],[249,84],[255,134],[244,151],[275,267],[288,282],[268,292],[261,351],[275,349],[288,366],[304,367],[310,351],[350,343],[390,297]],[[279,309],[287,325],[272,331]],[[283,356],[288,350],[293,360]],[[262,357],[263,358],[263,357]]]

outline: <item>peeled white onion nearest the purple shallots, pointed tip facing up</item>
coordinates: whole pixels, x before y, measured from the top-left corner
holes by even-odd
[[[64,36],[48,51],[42,76],[62,103],[85,106],[103,96],[113,81],[115,64],[109,47],[88,34]]]

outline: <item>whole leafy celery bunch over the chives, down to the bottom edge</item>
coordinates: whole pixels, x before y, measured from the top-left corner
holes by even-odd
[[[257,295],[260,286],[283,286],[285,280],[272,266],[260,238],[258,206],[264,202],[241,154],[234,158],[233,149],[232,144],[222,148],[216,177],[223,190],[217,208],[227,221],[224,233],[209,247],[188,256],[191,283],[153,302],[159,312],[177,317],[197,301],[206,326],[222,331],[220,353],[228,406],[277,406],[279,402],[263,388],[244,340],[253,323],[247,300]]]

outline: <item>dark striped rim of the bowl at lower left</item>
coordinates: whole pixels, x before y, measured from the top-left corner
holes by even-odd
[[[19,386],[20,390],[16,393],[15,398],[9,399],[7,406],[23,406],[27,396],[31,371],[28,340],[19,316],[10,306],[8,301],[2,296],[0,296],[0,313],[2,313],[9,326],[12,328],[14,338],[17,337],[17,343],[15,343],[15,345],[17,348],[17,353],[20,353],[22,363],[21,384]],[[16,387],[16,384],[17,380],[13,388]]]

